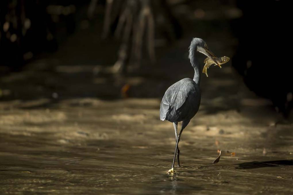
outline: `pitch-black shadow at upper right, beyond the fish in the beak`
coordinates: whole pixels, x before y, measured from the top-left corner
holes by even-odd
[[[289,2],[267,1],[264,5],[237,1],[237,6],[243,16],[231,22],[239,41],[232,65],[252,91],[272,100],[277,110],[288,117],[293,107],[292,66],[278,59],[290,55],[290,33],[280,22],[289,17]]]

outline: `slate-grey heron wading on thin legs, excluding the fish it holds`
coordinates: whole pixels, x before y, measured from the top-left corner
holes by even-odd
[[[200,74],[201,67],[200,63],[197,60],[196,52],[200,52],[207,57],[209,57],[215,64],[219,66],[217,61],[214,59],[216,56],[213,52],[207,47],[207,44],[204,40],[200,38],[193,38],[190,47],[189,47],[189,56],[190,63],[194,69],[193,79],[183,78],[182,80],[171,85],[165,92],[160,106],[160,119],[162,121],[168,120],[173,123],[175,130],[175,139],[176,147],[173,158],[173,163],[168,170],[168,174],[174,172],[174,164],[176,159],[178,159],[178,167],[180,166],[179,154],[180,150],[178,148],[178,143],[180,141],[180,136],[183,132],[183,129],[188,125],[190,119],[192,119],[197,113],[200,107]],[[182,126],[179,134],[177,133],[178,122],[182,121]]]

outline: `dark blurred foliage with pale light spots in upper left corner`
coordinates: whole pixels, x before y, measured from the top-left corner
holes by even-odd
[[[0,65],[18,70],[35,53],[55,51],[60,27],[75,29],[76,5],[71,1],[1,1]]]

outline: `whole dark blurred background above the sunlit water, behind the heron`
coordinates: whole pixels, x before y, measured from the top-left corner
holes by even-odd
[[[22,79],[1,80],[0,100],[162,97],[182,77],[171,76],[178,68],[172,62],[185,57],[188,63],[186,53],[176,55],[178,42],[201,37],[219,57],[231,53],[233,73],[257,95],[270,99],[272,109],[289,116],[293,91],[289,1],[113,1],[108,28],[106,4],[94,0],[1,1],[0,75],[18,72]],[[151,15],[142,19],[139,14],[144,6]],[[125,41],[125,31],[117,37],[115,30],[127,8],[134,22]],[[150,18],[153,29],[147,22]],[[140,20],[145,21],[144,28],[138,28]],[[149,29],[153,38],[148,37]],[[140,49],[133,46],[137,32],[144,32]],[[154,47],[148,50],[151,43]],[[225,49],[232,52],[226,54]],[[166,56],[167,51],[174,55]],[[120,63],[116,71],[112,69],[115,63]],[[170,64],[170,69],[162,63]],[[56,64],[64,65],[62,74]],[[84,71],[88,69],[90,73]],[[149,82],[135,86],[126,81],[136,75]],[[106,83],[99,81],[101,76],[108,78]]]

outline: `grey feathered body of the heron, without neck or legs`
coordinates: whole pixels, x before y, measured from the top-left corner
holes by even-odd
[[[171,85],[165,92],[160,107],[160,119],[180,122],[194,117],[200,105],[199,86],[184,78]]]

